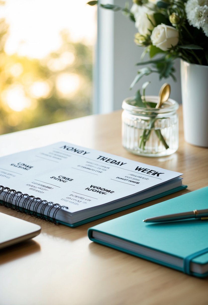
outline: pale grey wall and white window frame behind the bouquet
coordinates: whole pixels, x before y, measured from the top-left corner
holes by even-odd
[[[125,5],[126,0],[102,1]],[[130,7],[132,2],[129,1]],[[177,82],[172,78],[159,81],[158,74],[143,77],[130,91],[129,86],[142,66],[135,66],[140,61],[143,48],[134,43],[137,32],[134,23],[121,12],[98,9],[98,47],[97,68],[95,72],[95,109],[97,113],[107,113],[121,109],[123,99],[133,96],[145,81],[151,81],[147,95],[158,95],[163,83],[171,86],[170,97],[181,102],[180,62],[175,62]],[[145,56],[145,60],[149,59]]]

